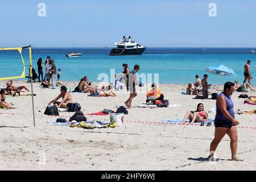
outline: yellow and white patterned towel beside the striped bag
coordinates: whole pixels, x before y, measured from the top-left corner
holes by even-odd
[[[84,129],[95,129],[95,128],[102,128],[102,127],[115,127],[117,126],[115,122],[110,121],[82,121],[80,122],[77,127],[83,127]]]

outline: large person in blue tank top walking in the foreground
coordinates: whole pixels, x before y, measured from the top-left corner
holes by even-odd
[[[237,158],[237,125],[239,122],[234,117],[234,104],[231,95],[234,92],[234,83],[226,82],[224,92],[220,93],[216,101],[216,116],[214,119],[215,134],[212,143],[210,143],[210,154],[208,159],[213,158],[221,139],[228,134],[230,138],[231,160],[242,161]]]

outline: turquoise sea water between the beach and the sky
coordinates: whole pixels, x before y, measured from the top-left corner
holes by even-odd
[[[109,56],[111,48],[73,48],[81,52],[80,57],[65,57],[71,52],[71,48],[34,48],[33,67],[36,68],[36,61],[39,57],[46,60],[51,56],[57,68],[61,68],[62,81],[79,81],[83,76],[88,76],[90,81],[97,80],[100,73],[110,76],[110,69],[115,73],[123,71],[122,64],[127,63],[132,69],[135,64],[140,65],[139,73],[159,73],[159,83],[165,84],[187,84],[195,82],[195,75],[200,78],[208,74],[208,82],[211,84],[224,84],[226,81],[243,81],[243,65],[248,59],[251,60],[251,74],[255,78],[251,80],[256,85],[256,55],[249,53],[253,48],[147,48],[143,55],[138,56]],[[0,51],[1,53],[1,51]],[[28,54],[23,51],[24,60],[28,64]],[[17,56],[16,56],[17,57]],[[0,54],[1,67],[0,77],[6,76],[9,72],[6,68],[16,58],[9,53]],[[14,64],[14,63],[13,63]],[[212,65],[224,64],[233,69],[237,76],[219,76],[205,72],[205,69]],[[15,72],[14,68],[12,72]],[[36,68],[37,70],[37,68]],[[27,75],[27,73],[26,73]]]

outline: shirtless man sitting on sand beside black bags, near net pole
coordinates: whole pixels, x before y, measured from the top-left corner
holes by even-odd
[[[59,100],[62,97],[62,101],[58,102],[57,100]],[[56,98],[54,98],[51,102],[48,103],[48,105],[51,104],[56,105],[58,108],[67,108],[67,105],[69,103],[73,103],[73,99],[70,93],[67,92],[67,87],[66,86],[61,86],[60,87],[60,94],[59,96],[57,96]]]

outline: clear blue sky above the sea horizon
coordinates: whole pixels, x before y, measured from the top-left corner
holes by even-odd
[[[0,15],[1,47],[113,47],[123,35],[148,47],[256,47],[255,0],[10,0]]]

